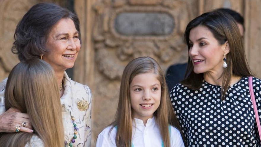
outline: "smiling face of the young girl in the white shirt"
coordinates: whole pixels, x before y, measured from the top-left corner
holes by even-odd
[[[147,119],[160,105],[161,85],[153,72],[136,75],[130,83],[130,101],[134,118]]]

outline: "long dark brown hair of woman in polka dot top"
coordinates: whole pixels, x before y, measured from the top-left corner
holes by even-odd
[[[184,33],[184,40],[187,43],[188,51],[190,50],[190,30],[197,26],[207,27],[219,45],[223,45],[226,41],[229,44],[229,53],[227,54],[227,68],[224,69],[221,77],[222,80],[222,94],[224,99],[227,89],[231,83],[231,77],[234,76],[251,76],[249,65],[246,60],[243,40],[240,35],[238,26],[232,16],[221,11],[212,11],[204,13],[188,23]],[[196,74],[193,71],[193,63],[188,59],[187,71],[184,80],[181,83],[193,90],[199,89],[203,83],[203,73]],[[219,77],[219,78],[221,78]]]

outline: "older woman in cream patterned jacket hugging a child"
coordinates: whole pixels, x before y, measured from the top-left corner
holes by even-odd
[[[65,146],[90,146],[91,141],[90,88],[71,80],[65,72],[74,66],[80,39],[79,19],[74,13],[56,4],[41,3],[31,7],[17,25],[12,48],[20,61],[40,58],[54,69],[61,97]],[[3,113],[0,132],[15,132],[17,126],[20,126],[18,131],[32,132],[27,114],[14,108],[4,110],[6,81],[0,83]]]

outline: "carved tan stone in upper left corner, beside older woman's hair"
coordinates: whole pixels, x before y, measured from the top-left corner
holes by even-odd
[[[2,0],[0,1],[0,33],[2,34],[0,42],[0,70],[1,73],[8,73],[19,62],[17,55],[11,52],[14,41],[14,32],[17,23],[31,6],[36,4],[37,0]],[[1,74],[7,75],[7,74]],[[0,76],[0,79],[4,77]]]

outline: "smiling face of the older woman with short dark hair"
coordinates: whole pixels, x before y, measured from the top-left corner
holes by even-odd
[[[78,36],[70,18],[62,18],[51,29],[46,42],[50,52],[43,55],[43,60],[48,62],[55,72],[65,71],[74,66],[81,48]]]

